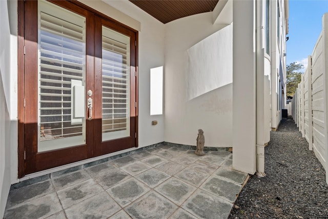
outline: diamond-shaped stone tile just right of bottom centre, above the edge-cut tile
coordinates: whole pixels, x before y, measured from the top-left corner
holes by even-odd
[[[178,206],[185,202],[196,189],[196,187],[174,177],[169,178],[169,180],[155,188],[158,193],[167,197]]]

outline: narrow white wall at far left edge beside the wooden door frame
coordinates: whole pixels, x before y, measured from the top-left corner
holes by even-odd
[[[13,178],[17,177],[17,19],[11,20],[15,3],[0,1],[0,217],[4,215]],[[9,22],[10,21],[10,22]],[[11,24],[10,24],[11,23]],[[15,135],[16,134],[16,135]],[[16,140],[16,141],[15,141]],[[16,153],[15,153],[16,152]]]

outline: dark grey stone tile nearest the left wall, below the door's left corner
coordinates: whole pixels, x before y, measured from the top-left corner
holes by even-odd
[[[50,180],[10,190],[7,199],[7,208],[52,193],[54,191],[55,189]]]

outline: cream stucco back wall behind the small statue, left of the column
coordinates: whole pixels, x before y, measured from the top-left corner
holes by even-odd
[[[212,22],[212,13],[208,12],[166,24],[165,141],[167,142],[196,145],[197,130],[203,129],[206,146],[232,146],[232,27],[228,28],[229,31],[224,30],[226,34],[215,34],[226,25],[213,25]],[[213,36],[211,36],[212,34]],[[211,41],[211,37],[217,35],[220,37]],[[197,79],[197,77],[190,78],[192,74],[196,73],[191,72],[193,69],[190,67],[192,65],[198,69],[201,69],[201,65],[204,69],[208,66],[215,67],[213,63],[209,63],[211,60],[215,60],[210,57],[211,53],[201,52],[204,47],[208,46],[202,41],[209,36],[208,42],[216,42],[215,48],[222,48],[222,50],[212,52],[217,52],[215,54],[217,56],[216,65],[224,66],[224,68],[217,68],[213,72],[221,79],[226,78],[227,75],[228,77],[225,83],[216,84],[214,90],[215,86],[208,90],[202,89],[199,92],[203,93],[202,95],[197,92],[197,95],[189,95],[188,79]],[[223,44],[230,45],[227,47]],[[202,55],[198,57],[198,61],[192,58],[193,63],[189,65],[188,57],[191,60],[191,56],[188,56],[187,51],[190,51],[191,48],[198,49]],[[195,55],[195,52],[193,54]],[[200,71],[199,73],[202,73],[203,77],[211,78],[213,72],[210,74]],[[198,86],[204,86],[200,84]]]

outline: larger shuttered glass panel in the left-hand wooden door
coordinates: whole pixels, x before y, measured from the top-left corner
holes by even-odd
[[[75,109],[85,102],[85,25],[83,16],[38,3],[38,152],[85,144],[85,107]]]

